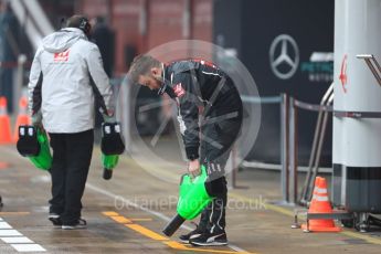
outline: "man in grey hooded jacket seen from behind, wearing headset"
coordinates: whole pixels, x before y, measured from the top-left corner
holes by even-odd
[[[112,86],[98,47],[87,40],[88,20],[73,15],[67,27],[43,39],[30,73],[32,123],[43,126],[53,149],[49,219],[62,229],[85,227],[81,219],[94,142],[94,102],[114,121]]]

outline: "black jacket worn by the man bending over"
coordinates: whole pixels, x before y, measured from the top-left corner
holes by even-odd
[[[178,120],[188,159],[199,158],[200,126],[242,117],[242,102],[233,81],[204,61],[180,61],[165,66],[162,93],[177,100]]]

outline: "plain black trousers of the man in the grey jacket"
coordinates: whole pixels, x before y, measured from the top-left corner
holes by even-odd
[[[60,214],[65,225],[76,224],[81,218],[81,199],[92,160],[94,131],[49,136],[53,148],[50,212]]]

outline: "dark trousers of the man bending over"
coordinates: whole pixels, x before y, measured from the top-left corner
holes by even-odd
[[[241,130],[242,118],[221,120],[205,125],[201,136],[201,162],[207,166],[208,193],[213,201],[201,213],[199,229],[210,233],[225,229],[225,208],[227,203],[227,187],[225,165]]]

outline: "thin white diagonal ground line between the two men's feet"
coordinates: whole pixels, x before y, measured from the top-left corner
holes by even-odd
[[[167,215],[165,215],[165,214],[162,214],[162,213],[160,213],[160,212],[157,212],[157,211],[147,209],[147,208],[145,208],[145,207],[142,207],[142,205],[139,205],[139,204],[137,204],[137,203],[134,203],[133,201],[130,201],[130,200],[128,200],[128,199],[123,198],[121,195],[114,194],[113,192],[103,190],[103,189],[97,188],[96,186],[93,186],[93,184],[91,184],[91,183],[86,183],[86,187],[87,187],[88,189],[95,191],[95,192],[98,192],[98,193],[100,193],[100,194],[107,195],[107,197],[109,197],[109,198],[112,198],[112,199],[114,199],[114,200],[123,201],[125,204],[131,205],[131,207],[137,208],[137,209],[140,209],[140,210],[142,210],[142,211],[145,211],[145,212],[147,212],[147,213],[150,213],[150,214],[152,214],[152,215],[155,215],[155,216],[158,216],[158,218],[160,218],[161,220],[163,220],[163,221],[166,221],[166,222],[169,222],[169,221],[171,220],[171,218],[169,218],[169,216],[167,216]],[[192,227],[190,227],[190,226],[188,226],[188,225],[181,225],[181,227],[184,229],[184,230],[188,230],[188,231],[194,230],[194,229],[192,229]],[[227,246],[229,246],[230,248],[232,248],[233,251],[236,251],[236,252],[247,252],[247,251],[245,251],[245,250],[243,250],[243,248],[241,248],[241,247],[239,247],[239,246],[235,246],[235,245],[233,245],[233,244],[229,244]]]

